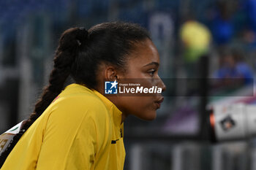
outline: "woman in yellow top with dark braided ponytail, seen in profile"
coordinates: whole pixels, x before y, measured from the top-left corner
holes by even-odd
[[[49,85],[1,170],[123,169],[124,119],[154,120],[163,98],[104,96],[105,81],[136,78],[165,90],[158,67],[156,47],[135,24],[64,31]],[[64,88],[69,76],[75,83]]]

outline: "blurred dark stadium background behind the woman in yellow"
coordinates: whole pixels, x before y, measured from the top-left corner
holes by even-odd
[[[211,144],[204,112],[211,104],[256,104],[244,93],[252,82],[230,92],[178,81],[255,77],[256,0],[0,0],[0,132],[33,111],[64,30],[113,20],[150,31],[159,75],[172,79],[167,90],[176,94],[153,122],[126,120],[125,169],[256,169],[256,140]]]

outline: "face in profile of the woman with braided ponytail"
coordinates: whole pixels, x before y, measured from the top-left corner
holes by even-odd
[[[118,87],[121,87],[122,82],[136,79],[138,83],[146,85],[148,88],[157,86],[162,88],[162,91],[165,90],[165,84],[158,75],[159,63],[157,48],[150,39],[136,44],[135,51],[129,55],[126,72],[117,76]],[[111,98],[111,101],[116,104],[116,107],[123,112],[125,117],[127,115],[135,115],[143,120],[154,120],[163,97],[161,93],[148,94],[146,96],[119,94],[116,98]]]

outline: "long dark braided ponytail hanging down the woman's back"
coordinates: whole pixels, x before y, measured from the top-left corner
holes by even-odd
[[[34,112],[28,120],[24,121],[25,123],[20,128],[20,132],[13,137],[9,146],[0,155],[0,168],[20,137],[42,115],[42,112],[45,111],[53,99],[61,93],[61,90],[64,88],[64,82],[71,72],[72,63],[74,63],[80,51],[80,46],[86,38],[87,31],[84,28],[69,28],[61,35],[59,47],[53,60],[54,64],[53,70],[50,73],[49,84],[44,88],[41,98],[37,101]]]

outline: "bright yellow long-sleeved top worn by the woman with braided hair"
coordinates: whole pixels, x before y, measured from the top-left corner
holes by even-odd
[[[68,85],[16,144],[1,170],[121,170],[121,111],[83,85]]]

